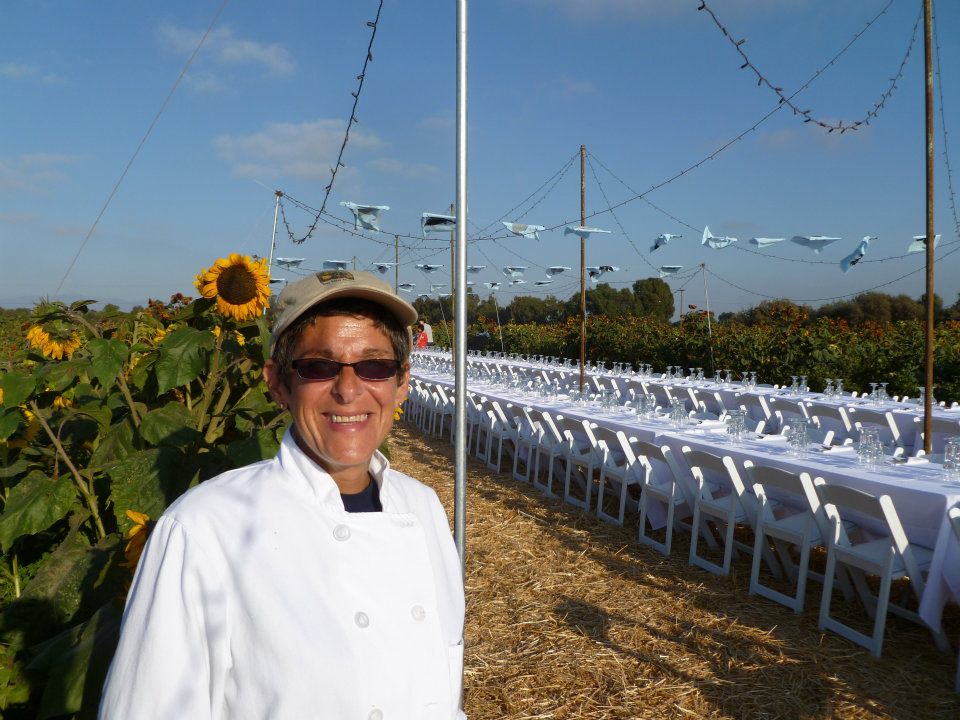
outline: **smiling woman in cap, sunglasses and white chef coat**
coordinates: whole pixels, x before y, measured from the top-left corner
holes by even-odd
[[[277,456],[202,483],[140,560],[101,718],[462,718],[463,585],[433,490],[377,448],[416,311],[369,273],[278,299]]]

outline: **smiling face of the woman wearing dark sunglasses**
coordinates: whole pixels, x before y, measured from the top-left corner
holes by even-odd
[[[294,360],[302,358],[352,363],[394,359],[394,352],[390,339],[370,318],[336,315],[318,317],[306,328],[293,353]],[[264,377],[274,398],[293,416],[301,449],[341,490],[350,491],[357,483],[365,487],[370,458],[393,427],[394,410],[407,397],[409,368],[380,381],[362,380],[350,367],[332,380],[304,380],[296,370],[280,377],[269,360]]]

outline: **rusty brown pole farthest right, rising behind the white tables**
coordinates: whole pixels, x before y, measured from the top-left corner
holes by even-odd
[[[923,55],[926,85],[927,130],[927,318],[923,373],[923,449],[931,452],[933,442],[933,8],[932,0],[923,0]]]

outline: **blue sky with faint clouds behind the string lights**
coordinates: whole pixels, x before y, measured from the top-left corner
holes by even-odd
[[[708,4],[734,37],[746,38],[750,60],[789,94],[887,1]],[[83,244],[221,4],[4,3],[0,305],[29,306],[45,296],[129,307],[195,294],[193,276],[217,257],[269,253],[274,189],[319,207],[377,0],[231,0]],[[816,301],[877,287],[918,297],[922,271],[891,281],[920,269],[920,254],[863,262],[848,274],[839,261],[864,235],[879,238],[866,257],[876,260],[902,255],[910,237],[924,232],[919,34],[895,92],[869,127],[827,134],[782,109],[648,194],[656,208],[635,200],[604,212],[704,160],[778,105],[749,69],[740,69],[740,56],[698,4],[470,3],[470,230],[476,236],[486,228],[479,235],[494,237],[471,244],[470,263],[488,266],[471,279],[479,287],[505,280],[498,272],[504,265],[528,266],[526,285],[501,290],[504,303],[513,292],[567,297],[577,290],[574,236],[561,228],[539,242],[504,237],[498,221],[578,221],[575,155],[584,144],[587,212],[597,213],[587,224],[613,231],[588,241],[587,264],[619,266],[604,276],[615,286],[655,275],[663,264],[683,265],[679,279],[667,280],[684,287],[684,304],[703,307],[703,274],[692,272],[704,263],[718,313],[766,297]],[[894,0],[796,102],[830,123],[863,118],[895,76],[920,7],[919,0]],[[936,11],[944,111],[953,130],[947,150],[960,192],[960,6],[940,0]],[[293,245],[281,224],[277,255],[303,257],[303,267],[313,269],[324,259],[354,257],[368,267],[393,259],[395,233],[419,236],[422,212],[447,211],[454,200],[455,12],[453,0],[384,2],[359,123],[328,203],[342,219],[342,200],[391,206],[384,233],[360,238],[321,223],[312,238]],[[935,226],[945,255],[960,245],[948,244],[958,238],[939,101],[935,122]],[[536,193],[564,168],[559,181]],[[312,216],[289,200],[284,207],[291,229],[303,235]],[[739,242],[704,247],[705,225]],[[683,237],[651,254],[663,232]],[[790,242],[763,251],[747,242],[795,234],[842,240],[819,255]],[[416,283],[417,292],[449,283],[449,244],[428,238],[401,238],[400,280]],[[428,277],[417,262],[445,267]],[[534,288],[542,266],[553,264],[574,270]],[[958,270],[960,253],[938,265],[937,291],[948,304],[960,293]],[[279,269],[275,275],[295,277]]]

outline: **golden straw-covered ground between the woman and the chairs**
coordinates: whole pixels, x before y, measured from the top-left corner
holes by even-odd
[[[453,518],[453,449],[398,424],[393,464]],[[891,618],[883,657],[471,459],[465,710],[493,718],[958,718],[956,655]],[[949,614],[956,639],[960,622]]]

